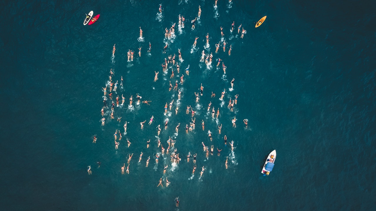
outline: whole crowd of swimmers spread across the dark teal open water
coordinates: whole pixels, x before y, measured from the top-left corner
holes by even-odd
[[[229,1],[231,2],[231,1]],[[215,0],[215,7],[217,6],[217,0]],[[159,12],[162,13],[162,5],[159,6]],[[191,29],[194,30],[195,29],[195,23],[197,20],[200,19],[200,16],[201,16],[201,7],[199,6],[199,12],[198,12],[198,17],[195,17],[191,23],[192,23],[192,27]],[[185,21],[185,18],[181,15],[179,15],[179,22],[178,22],[178,26],[179,28],[181,27],[184,27],[184,21]],[[230,32],[232,33],[233,30],[234,30],[234,26],[235,25],[235,21],[232,22],[231,24],[231,30]],[[240,26],[238,27],[238,34],[241,33],[241,38],[243,38],[244,34],[246,33],[246,31],[241,28],[241,24]],[[170,39],[171,36],[174,35],[174,29],[175,29],[175,23],[168,29],[167,27],[165,28],[165,38],[167,39]],[[222,26],[220,26],[220,33],[221,33],[221,37],[224,36],[224,32],[223,32],[223,28]],[[140,38],[143,36],[143,30],[141,29],[141,27],[139,27],[139,36]],[[195,37],[194,39],[194,43],[193,43],[193,47],[196,47],[197,45],[197,39],[199,37]],[[223,40],[223,43],[222,43],[222,46],[223,46],[223,51],[225,52],[226,51],[226,45],[228,43]],[[209,33],[206,34],[206,45],[209,45]],[[218,53],[218,49],[220,48],[221,46],[221,42],[219,42],[218,44],[215,44],[215,53]],[[142,47],[139,47],[138,50],[138,55],[139,57],[141,57],[141,48]],[[167,48],[168,48],[168,44],[166,42],[166,45],[163,49],[163,53],[166,53],[167,52]],[[113,46],[113,50],[112,50],[112,56],[115,56],[115,45]],[[149,50],[148,52],[150,53],[150,50],[151,50],[151,44],[149,42]],[[232,45],[229,46],[229,51],[228,51],[228,55],[230,56],[231,54],[231,50],[232,50]],[[127,59],[128,61],[133,61],[133,55],[134,54],[134,51],[133,50],[128,50],[127,52]],[[180,48],[178,49],[177,53],[178,55],[178,59],[180,60],[180,64],[182,62],[182,53],[180,51]],[[170,78],[174,78],[174,69],[176,69],[177,73],[180,72],[180,66],[178,64],[178,62],[176,61],[176,54],[170,54],[168,56],[168,58],[165,58],[164,59],[164,63],[162,63],[162,71],[164,73],[167,73],[169,69],[171,69],[171,77]],[[205,50],[202,51],[202,56],[201,56],[201,59],[200,59],[200,62],[205,62],[206,65],[208,65],[209,63],[211,63],[213,60],[213,54],[212,53],[208,53],[206,54],[205,53]],[[223,60],[221,60],[220,58],[217,59],[217,67],[220,65],[220,63],[222,62],[222,69],[223,69],[223,72],[224,74],[226,74],[226,66],[224,65],[224,62]],[[187,66],[187,68],[185,69],[185,74],[186,74],[186,77],[189,76],[189,68],[190,68],[190,65]],[[158,75],[159,75],[159,71],[154,71],[154,82],[156,82],[158,80]],[[102,115],[102,119],[101,119],[101,122],[102,122],[102,126],[105,125],[105,121],[106,121],[106,118],[105,118],[105,110],[108,109],[108,104],[107,104],[107,101],[108,99],[111,100],[111,114],[109,115],[109,118],[110,119],[114,119],[115,115],[114,115],[114,112],[115,112],[115,107],[119,107],[119,105],[124,105],[124,102],[125,102],[125,99],[126,97],[122,94],[121,95],[121,98],[119,97],[119,95],[117,96],[112,96],[113,93],[116,93],[117,94],[117,88],[120,86],[121,90],[123,90],[123,77],[121,76],[120,77],[120,84],[119,84],[119,80],[116,80],[116,82],[114,83],[114,71],[112,71],[112,69],[109,71],[109,82],[108,84],[106,83],[106,86],[103,87],[103,92],[104,92],[104,95],[103,95],[103,106],[102,106],[102,109],[101,109],[101,115]],[[181,93],[182,93],[182,89],[178,88],[178,86],[183,86],[183,82],[184,82],[185,78],[184,78],[184,75],[182,74],[180,76],[180,82],[179,80],[176,80],[175,82],[175,86],[173,88],[173,91],[176,90],[178,95],[177,95],[177,101],[180,100],[180,96],[181,96]],[[231,90],[233,89],[233,86],[234,86],[234,81],[235,81],[235,78],[232,78],[231,82],[230,82],[230,86],[231,86]],[[180,85],[179,85],[180,84]],[[172,88],[172,84],[171,84],[171,81],[169,83],[169,88],[168,88],[168,91],[170,92],[171,91],[171,88]],[[109,89],[109,92],[108,92],[108,89]],[[196,96],[196,103],[199,103],[199,99],[201,96],[203,96],[203,90],[204,90],[204,86],[203,84],[201,83],[200,87],[199,87],[199,92],[194,92],[194,95]],[[226,89],[223,89],[223,91],[221,92],[221,96],[220,96],[220,100],[221,101],[224,101],[224,96],[226,94]],[[233,109],[234,109],[234,106],[237,104],[237,100],[238,100],[238,94],[234,95],[232,98],[229,99],[229,103],[228,103],[228,109],[230,110],[230,112],[233,112]],[[215,93],[214,92],[211,92],[211,98],[214,98],[215,97]],[[141,96],[136,93],[136,98],[137,98],[137,101],[136,101],[136,104],[140,104],[141,102]],[[115,104],[115,102],[116,104]],[[166,115],[168,110],[171,111],[171,109],[173,108],[174,106],[174,100],[175,99],[172,99],[172,101],[170,101],[169,103],[166,102],[165,105],[164,105],[164,114]],[[120,103],[121,102],[121,103]],[[142,103],[144,104],[147,104],[147,105],[150,105],[149,102],[152,102],[152,101],[149,101],[149,100],[144,100],[142,101]],[[176,101],[175,101],[176,102]],[[218,117],[220,116],[220,108],[214,108],[214,106],[212,107],[212,102],[210,101],[209,104],[208,104],[208,113],[211,112],[211,117],[213,119],[218,119]],[[129,106],[133,106],[133,95],[131,95],[129,97]],[[176,105],[176,108],[174,109],[175,110],[175,115],[177,115],[177,112],[179,110],[179,106]],[[188,134],[190,131],[193,131],[195,130],[195,124],[196,124],[196,117],[194,117],[194,115],[196,114],[196,111],[194,110],[194,107],[191,106],[191,105],[187,105],[186,106],[186,115],[191,115],[190,116],[190,119],[191,119],[191,122],[189,122],[189,124],[187,123],[185,125],[185,132],[186,134]],[[126,134],[127,133],[127,123],[129,122],[126,122],[126,121],[122,121],[121,119],[122,117],[121,116],[118,116],[117,117],[117,121],[118,122],[124,122],[124,133],[123,134]],[[154,116],[151,116],[150,118],[150,121],[149,121],[149,125],[151,125],[153,122],[155,122],[156,120],[154,119]],[[231,123],[232,123],[232,127],[236,127],[236,121],[237,121],[237,118],[234,116],[232,119],[231,119]],[[243,120],[244,124],[245,124],[245,127],[247,127],[248,125],[248,121],[247,119],[244,119]],[[140,122],[140,127],[141,127],[141,130],[143,130],[144,128],[144,124],[146,123],[146,120],[145,121],[142,121]],[[165,121],[165,130],[167,129],[167,126],[168,126],[168,121]],[[205,131],[205,122],[204,120],[202,119],[201,120],[201,124],[202,124],[202,130]],[[177,122],[176,124],[176,127],[175,127],[175,132],[176,133],[179,133],[179,127],[180,127],[180,122]],[[221,134],[221,129],[222,129],[222,124],[218,125],[218,134]],[[159,134],[161,132],[161,125],[158,125],[156,127],[156,133],[158,134],[158,137],[159,137]],[[115,143],[115,149],[118,149],[118,146],[120,145],[120,141],[121,141],[121,138],[122,138],[122,133],[120,130],[116,130],[115,131],[115,134],[114,134],[114,143]],[[210,143],[212,143],[212,132],[209,130],[208,131],[208,138],[210,139]],[[131,142],[129,139],[126,139],[127,140],[127,147],[129,148],[130,145],[131,145]],[[97,137],[94,136],[93,138],[93,142],[92,143],[96,143],[97,141]],[[170,156],[171,158],[171,164],[173,165],[177,165],[179,164],[179,161],[181,160],[181,158],[179,157],[180,155],[180,152],[177,151],[177,148],[174,146],[175,143],[177,142],[177,140],[173,140],[171,137],[168,138],[167,140],[167,144],[165,145],[165,148],[161,142],[161,140],[157,140],[157,148],[161,147],[160,148],[160,151],[158,151],[156,154],[153,154],[153,157],[155,157],[155,163],[158,164],[158,160],[159,160],[159,157],[163,156],[163,155],[167,155],[167,156]],[[209,157],[209,153],[211,155],[214,154],[214,145],[211,145],[210,148],[209,146],[206,146],[204,144],[204,142],[202,142],[202,145],[203,145],[203,155],[205,155],[206,158]],[[230,150],[231,152],[233,152],[234,150],[234,141],[231,140],[231,142],[229,142],[229,145],[230,145]],[[146,147],[149,148],[150,146],[150,139],[147,140],[146,142]],[[227,147],[227,136],[224,135],[224,146]],[[223,150],[223,149],[218,149],[218,147],[216,147],[217,149],[217,156],[219,157],[220,156],[220,152]],[[123,166],[121,166],[121,174],[124,174],[124,170],[126,171],[127,174],[129,174],[130,172],[130,169],[129,169],[129,166],[130,166],[130,160],[133,156],[133,153],[132,154],[128,154],[128,159],[127,159],[127,166],[125,165],[125,163],[123,164]],[[142,156],[143,156],[143,152],[140,153],[139,155],[139,160],[138,160],[138,163],[141,162],[141,159],[142,159]],[[187,163],[190,162],[190,158],[193,156],[193,170],[192,170],[192,175],[194,175],[195,173],[195,170],[196,170],[196,157],[197,157],[197,153],[195,154],[191,154],[191,152],[188,152],[188,155],[186,155],[186,158],[187,158]],[[146,160],[146,167],[149,166],[149,162],[150,162],[150,156],[147,158]],[[100,166],[100,161],[97,162],[97,164]],[[226,157],[226,161],[224,161],[224,166],[225,168],[227,169],[228,167],[228,157]],[[163,169],[163,175],[166,173],[166,170],[168,168],[168,165],[164,166],[164,169]],[[88,166],[88,173],[91,174],[92,171],[91,171],[91,166]],[[200,177],[203,176],[203,173],[205,171],[205,167],[202,166],[201,168],[201,172],[200,172]],[[159,179],[159,183],[157,185],[157,187],[161,186],[163,187],[163,179]],[[165,178],[165,187],[168,187],[168,185],[170,185],[170,181],[168,181],[167,177]],[[176,206],[179,206],[179,198],[177,197],[176,198]]]

